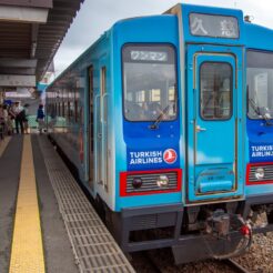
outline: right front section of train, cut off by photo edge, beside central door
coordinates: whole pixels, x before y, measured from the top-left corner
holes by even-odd
[[[273,231],[273,31],[245,23],[246,210],[254,231]],[[247,210],[249,209],[249,210]]]

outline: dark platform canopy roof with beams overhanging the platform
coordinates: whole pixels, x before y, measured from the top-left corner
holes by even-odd
[[[34,87],[84,0],[0,0],[0,88]]]

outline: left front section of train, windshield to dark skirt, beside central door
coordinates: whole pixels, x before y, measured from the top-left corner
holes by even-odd
[[[113,36],[120,212],[114,226],[124,251],[171,246],[183,212],[178,19],[169,14],[124,20],[113,27]],[[156,231],[162,234],[151,240]]]

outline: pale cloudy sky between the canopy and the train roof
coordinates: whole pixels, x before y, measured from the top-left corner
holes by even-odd
[[[180,0],[84,0],[54,57],[55,75],[120,19],[161,14]],[[183,0],[183,3],[235,8],[253,22],[273,29],[272,0]]]

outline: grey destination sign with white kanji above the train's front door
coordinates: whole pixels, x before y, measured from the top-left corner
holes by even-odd
[[[239,38],[237,19],[235,17],[191,13],[190,30],[192,36]]]

